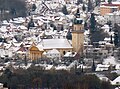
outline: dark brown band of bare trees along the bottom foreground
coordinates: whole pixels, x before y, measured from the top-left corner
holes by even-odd
[[[65,70],[42,70],[31,67],[27,70],[6,69],[0,82],[10,89],[112,89],[109,82],[102,82],[95,75],[75,74]]]

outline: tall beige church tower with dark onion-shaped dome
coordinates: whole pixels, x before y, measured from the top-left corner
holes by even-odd
[[[72,30],[72,46],[73,51],[83,53],[83,45],[84,45],[84,22],[83,19],[80,18],[79,9],[75,15],[75,19],[73,21],[73,30]]]

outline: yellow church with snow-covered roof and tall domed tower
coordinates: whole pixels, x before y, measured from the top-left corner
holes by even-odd
[[[36,60],[42,58],[45,52],[56,49],[60,55],[65,55],[66,52],[83,52],[84,45],[84,22],[80,18],[80,13],[76,13],[73,20],[72,40],[66,38],[58,39],[41,39],[38,44],[32,44],[29,48],[29,59]]]

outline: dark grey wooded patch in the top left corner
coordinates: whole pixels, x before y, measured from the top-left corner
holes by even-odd
[[[0,15],[1,20],[26,16],[27,4],[25,0],[0,0]]]

